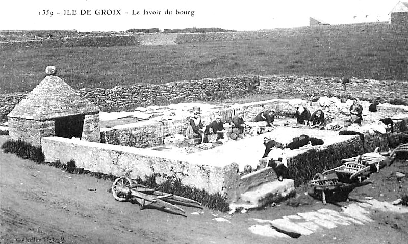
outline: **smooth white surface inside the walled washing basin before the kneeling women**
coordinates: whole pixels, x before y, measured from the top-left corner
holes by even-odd
[[[180,155],[180,158],[187,160],[191,164],[211,165],[225,167],[230,164],[237,164],[239,171],[242,172],[246,165],[250,165],[253,169],[257,168],[259,160],[265,152],[264,137],[270,137],[278,142],[287,144],[294,137],[299,135],[309,135],[324,141],[323,145],[312,146],[305,145],[299,149],[284,149],[288,158],[304,153],[311,148],[318,149],[327,145],[339,143],[348,140],[350,135],[339,135],[338,131],[318,130],[310,128],[291,128],[278,126],[273,131],[264,134],[250,136],[246,135],[243,139],[228,140],[222,145],[214,143],[214,148],[207,150],[186,150],[186,148],[166,148],[164,145],[146,148],[145,150],[160,151],[160,155],[166,157],[166,154],[172,157]],[[197,146],[194,146],[197,147]],[[188,149],[188,148],[187,148]]]

